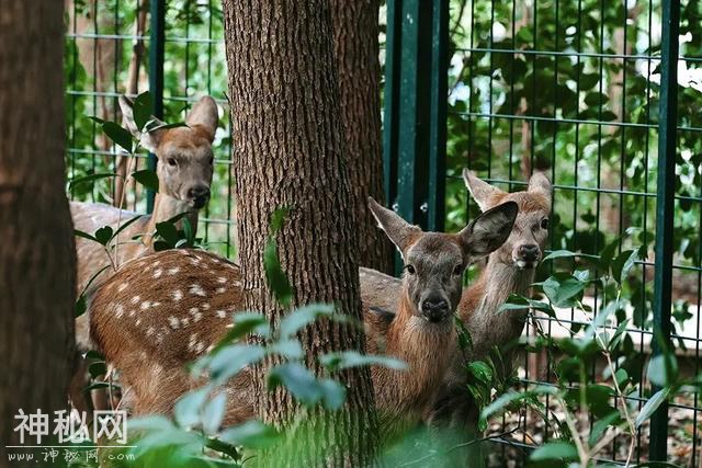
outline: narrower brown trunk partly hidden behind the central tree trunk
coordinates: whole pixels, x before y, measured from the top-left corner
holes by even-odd
[[[369,196],[381,204],[381,66],[378,0],[330,0],[335,53],[339,71],[341,124],[349,161],[351,198],[358,219],[359,264],[393,273],[393,246],[377,235]]]

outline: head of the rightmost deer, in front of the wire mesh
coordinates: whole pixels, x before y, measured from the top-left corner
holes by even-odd
[[[468,170],[463,171],[463,179],[483,212],[505,202],[514,202],[519,206],[519,215],[511,235],[490,256],[490,261],[495,259],[519,270],[536,267],[543,258],[544,244],[548,237],[552,189],[548,179],[543,173],[535,172],[529,180],[529,189],[514,193],[502,192]]]

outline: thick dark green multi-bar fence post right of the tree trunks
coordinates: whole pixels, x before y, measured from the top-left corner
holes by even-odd
[[[387,201],[443,229],[449,2],[387,1],[384,169]]]

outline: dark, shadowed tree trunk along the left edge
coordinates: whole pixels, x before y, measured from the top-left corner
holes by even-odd
[[[19,444],[19,409],[65,408],[73,356],[63,12],[57,1],[0,0],[0,452]]]

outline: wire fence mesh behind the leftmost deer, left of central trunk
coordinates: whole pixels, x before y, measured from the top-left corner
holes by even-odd
[[[149,21],[145,0],[71,0],[67,2],[66,112],[69,180],[114,173],[121,153],[89,116],[120,122],[117,98],[148,90]],[[181,122],[190,105],[210,94],[219,105],[219,129],[213,144],[212,198],[201,213],[197,236],[210,249],[236,253],[231,192],[230,126],[225,92],[227,69],[222,7],[214,0],[166,2],[165,119]],[[135,52],[143,44],[141,52]],[[138,64],[139,72],[133,71]],[[146,169],[146,152],[136,169]],[[146,194],[128,184],[124,207],[144,213]],[[113,204],[112,179],[71,187],[72,199]]]

